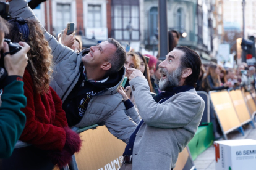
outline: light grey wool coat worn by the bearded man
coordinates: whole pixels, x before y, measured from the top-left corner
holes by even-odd
[[[177,156],[194,137],[205,102],[195,89],[173,95],[163,103],[151,97],[145,78],[129,81],[144,123],[134,142],[134,170],[171,169]]]

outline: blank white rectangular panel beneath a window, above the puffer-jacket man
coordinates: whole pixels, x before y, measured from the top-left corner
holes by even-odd
[[[86,37],[98,41],[106,41],[108,39],[108,28],[86,28]]]

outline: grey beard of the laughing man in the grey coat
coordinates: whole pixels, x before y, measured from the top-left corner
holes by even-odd
[[[173,72],[169,73],[166,68],[160,68],[160,73],[166,75],[166,78],[161,78],[159,81],[160,91],[166,91],[170,87],[179,86],[181,80],[182,68],[178,67]]]

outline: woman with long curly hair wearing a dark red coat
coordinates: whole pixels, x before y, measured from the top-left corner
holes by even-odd
[[[51,49],[37,21],[17,17],[9,23],[9,39],[12,42],[25,41],[30,45],[28,65],[23,76],[27,107],[22,111],[27,116],[27,122],[19,140],[46,150],[51,161],[62,168],[80,150],[81,140],[69,129],[62,101],[49,86],[53,73]]]

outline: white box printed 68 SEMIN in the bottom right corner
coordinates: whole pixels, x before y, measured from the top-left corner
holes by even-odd
[[[215,141],[216,170],[253,170],[256,162],[256,140]]]

